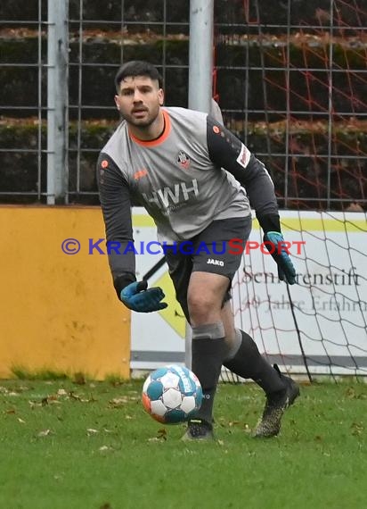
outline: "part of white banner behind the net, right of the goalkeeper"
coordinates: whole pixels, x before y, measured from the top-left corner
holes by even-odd
[[[279,280],[256,226],[243,270],[233,281],[237,325],[252,333],[270,362],[289,371],[310,378],[318,373],[366,375],[364,214],[283,211],[281,218],[297,284]]]

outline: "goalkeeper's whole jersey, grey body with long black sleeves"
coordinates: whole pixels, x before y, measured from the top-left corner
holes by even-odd
[[[146,208],[167,244],[195,237],[212,221],[248,216],[249,201],[259,221],[278,213],[264,164],[239,138],[207,113],[162,111],[159,138],[139,140],[122,121],[102,148],[97,170],[107,241],[133,241],[132,204]],[[114,277],[135,271],[126,256],[110,257],[110,265]]]

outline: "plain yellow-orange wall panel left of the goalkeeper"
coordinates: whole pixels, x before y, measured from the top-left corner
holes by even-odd
[[[12,368],[129,376],[130,313],[118,302],[99,207],[0,207],[0,377]],[[61,243],[77,238],[77,255]],[[104,241],[101,244],[105,250]]]

